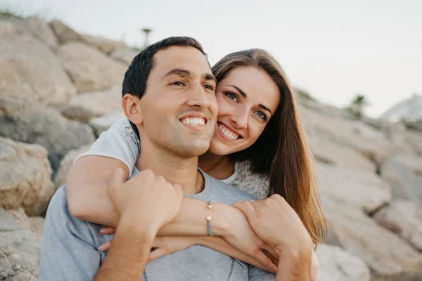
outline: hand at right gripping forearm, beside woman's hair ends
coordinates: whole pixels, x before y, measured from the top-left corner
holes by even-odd
[[[283,249],[312,249],[312,242],[295,210],[280,195],[251,201],[235,202],[243,211],[258,237],[272,247]]]

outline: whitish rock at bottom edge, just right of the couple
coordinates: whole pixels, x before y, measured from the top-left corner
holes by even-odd
[[[366,263],[340,247],[322,244],[316,250],[319,281],[369,281],[371,272]]]

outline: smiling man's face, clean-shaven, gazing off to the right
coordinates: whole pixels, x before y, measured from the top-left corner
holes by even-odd
[[[207,60],[196,48],[172,46],[158,51],[153,65],[139,102],[141,142],[179,157],[203,154],[218,110]]]

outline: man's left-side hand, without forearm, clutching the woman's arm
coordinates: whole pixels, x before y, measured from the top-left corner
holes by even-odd
[[[133,220],[154,236],[177,215],[183,196],[180,185],[172,185],[148,169],[125,183],[122,170],[117,169],[110,176],[108,190],[120,218]]]

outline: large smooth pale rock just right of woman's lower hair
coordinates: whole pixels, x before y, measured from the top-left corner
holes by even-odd
[[[352,204],[366,213],[371,213],[391,200],[390,186],[375,173],[318,164],[316,175],[321,194],[338,202]]]

